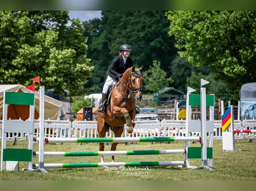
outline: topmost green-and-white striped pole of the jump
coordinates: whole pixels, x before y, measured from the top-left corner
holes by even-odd
[[[81,142],[170,142],[200,141],[201,137],[99,137],[99,138],[45,138],[45,143],[81,143]]]

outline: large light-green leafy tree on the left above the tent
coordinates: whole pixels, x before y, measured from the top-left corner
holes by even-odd
[[[40,84],[54,94],[78,94],[93,70],[87,38],[68,11],[0,11],[0,83]]]

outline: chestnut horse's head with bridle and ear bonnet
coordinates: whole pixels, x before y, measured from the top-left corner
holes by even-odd
[[[135,66],[132,67],[130,72],[130,86],[131,90],[133,92],[133,96],[137,101],[140,101],[142,99],[142,74],[141,71],[143,69],[143,65],[140,68],[137,68]]]

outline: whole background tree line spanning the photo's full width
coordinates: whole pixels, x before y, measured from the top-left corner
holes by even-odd
[[[144,94],[161,87],[151,78],[186,92],[202,77],[211,94],[222,92],[216,98],[239,100],[241,86],[256,78],[255,13],[102,11],[80,24],[68,11],[0,11],[0,83],[27,86],[40,76],[55,94],[101,93],[95,85],[129,44],[134,65],[144,65]]]

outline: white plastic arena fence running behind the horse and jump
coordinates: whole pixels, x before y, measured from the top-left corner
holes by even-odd
[[[21,120],[21,119],[19,119]],[[186,136],[185,120],[138,120],[133,133],[126,132],[123,137],[179,137]],[[234,130],[255,130],[256,120],[234,120]],[[256,133],[234,133],[235,139],[255,139]],[[201,136],[201,132],[191,132],[190,136]],[[39,137],[39,120],[34,120],[34,138]],[[89,138],[98,137],[97,121],[44,120],[44,137]],[[106,137],[114,137],[110,130]],[[8,133],[7,141],[26,140],[26,133]],[[207,135],[209,139],[209,134]],[[222,121],[214,120],[214,139],[222,140]],[[2,140],[2,120],[0,120],[0,140]]]

